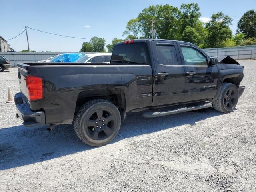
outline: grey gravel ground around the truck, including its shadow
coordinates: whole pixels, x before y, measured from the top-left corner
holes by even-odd
[[[83,144],[72,126],[25,128],[0,73],[0,191],[256,191],[256,60],[230,114],[213,108],[160,118],[130,114],[110,144]]]

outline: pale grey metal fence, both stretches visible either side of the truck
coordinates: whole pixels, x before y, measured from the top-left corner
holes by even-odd
[[[231,56],[232,58],[239,59],[254,59],[256,58],[256,45],[252,46],[239,46],[229,48],[211,48],[204,49],[204,51],[211,57],[216,56]],[[6,56],[12,66],[22,62],[37,62],[53,57],[60,52],[38,53],[38,52],[0,52],[0,55]]]

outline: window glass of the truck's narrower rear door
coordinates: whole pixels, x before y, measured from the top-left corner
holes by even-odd
[[[158,63],[163,65],[178,65],[174,45],[156,46]]]

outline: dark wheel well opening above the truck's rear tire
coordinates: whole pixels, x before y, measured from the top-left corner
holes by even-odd
[[[125,95],[124,91],[121,89],[98,89],[82,91],[78,94],[75,112],[77,112],[83,104],[92,99],[107,100],[112,102],[118,108],[120,113],[125,112]]]

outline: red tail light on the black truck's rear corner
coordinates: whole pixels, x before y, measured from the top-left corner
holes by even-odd
[[[35,101],[43,98],[43,81],[36,76],[26,76],[26,87],[28,91],[28,100]]]

